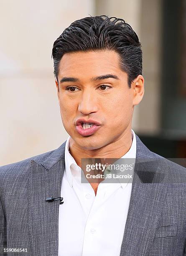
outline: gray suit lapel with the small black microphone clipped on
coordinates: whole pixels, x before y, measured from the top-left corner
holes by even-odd
[[[64,173],[65,143],[42,161],[31,160],[28,187],[28,225],[33,255],[58,255],[59,200]],[[39,163],[38,163],[39,162]]]

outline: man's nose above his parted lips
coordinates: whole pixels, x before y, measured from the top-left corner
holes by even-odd
[[[78,110],[84,115],[97,112],[98,105],[96,95],[94,95],[90,90],[84,90],[79,102]]]

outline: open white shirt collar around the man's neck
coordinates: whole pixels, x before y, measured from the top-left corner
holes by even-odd
[[[135,132],[131,130],[132,132],[132,145],[129,149],[129,151],[123,155],[121,158],[136,158],[136,136]],[[66,177],[68,179],[70,187],[72,187],[72,175],[78,176],[79,172],[81,171],[81,168],[76,164],[76,161],[74,160],[73,156],[71,156],[69,152],[70,148],[70,136],[67,138],[66,145],[65,145],[65,172]],[[134,169],[134,168],[133,168]],[[122,183],[122,180],[120,180],[121,186],[124,188],[126,187],[126,183]]]

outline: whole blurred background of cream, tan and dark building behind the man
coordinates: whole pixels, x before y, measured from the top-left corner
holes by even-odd
[[[186,158],[186,0],[1,0],[0,165],[53,150],[61,122],[51,49],[71,22],[123,18],[143,46],[145,95],[132,128],[166,158]]]

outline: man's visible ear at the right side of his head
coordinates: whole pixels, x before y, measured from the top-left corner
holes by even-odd
[[[131,84],[133,89],[133,106],[138,105],[143,99],[144,95],[144,78],[142,75],[138,75]]]

